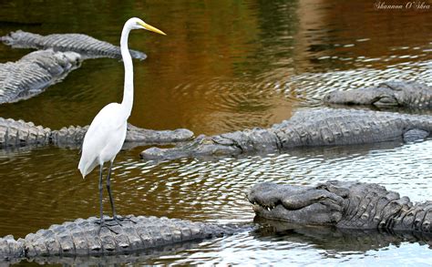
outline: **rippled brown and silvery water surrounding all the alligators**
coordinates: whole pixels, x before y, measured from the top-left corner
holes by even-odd
[[[366,1],[351,2],[14,1],[0,3],[0,35],[17,29],[80,32],[118,43],[123,22],[143,17],[168,36],[130,36],[130,46],[149,58],[134,62],[135,103],[129,121],[142,128],[190,128],[210,135],[268,127],[299,108],[321,105],[324,93],[334,88],[393,78],[430,84],[432,10],[380,10]],[[0,59],[16,60],[28,52],[0,46]],[[120,62],[87,60],[36,98],[0,106],[0,116],[50,128],[86,125],[100,108],[121,99],[122,79]],[[116,160],[113,188],[122,214],[251,222],[244,192],[263,180],[362,180],[416,201],[432,195],[431,141],[158,164],[139,160],[141,149],[122,151]],[[98,214],[97,173],[82,180],[78,159],[74,149],[0,151],[0,236],[22,237]],[[432,260],[424,242],[382,242],[379,235],[371,240],[335,246],[338,239],[320,239],[312,231],[264,229],[177,252],[117,260],[274,265],[421,265]]]

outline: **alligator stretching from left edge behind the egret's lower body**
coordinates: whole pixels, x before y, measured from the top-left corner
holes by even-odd
[[[80,147],[88,126],[69,126],[51,130],[33,122],[0,118],[0,149],[53,144],[59,147]],[[193,133],[185,128],[151,130],[128,125],[125,143],[160,144],[192,139]]]

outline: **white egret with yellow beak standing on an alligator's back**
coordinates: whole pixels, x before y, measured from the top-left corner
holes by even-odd
[[[90,127],[87,130],[82,145],[81,159],[79,160],[78,169],[81,171],[83,179],[90,171],[98,165],[99,169],[99,202],[100,202],[100,228],[106,226],[103,216],[102,205],[102,172],[104,162],[109,161],[109,169],[107,176],[107,190],[109,201],[111,204],[113,221],[120,224],[122,218],[118,218],[114,208],[114,200],[111,195],[110,176],[111,168],[118,151],[123,146],[126,138],[127,121],[130,116],[133,104],[133,65],[132,58],[129,54],[128,37],[130,30],[146,29],[165,36],[165,33],[159,29],[149,26],[144,21],[137,17],[130,18],[121,32],[120,50],[125,66],[125,86],[123,93],[123,101],[121,104],[110,103],[102,108],[98,115],[93,118]],[[100,229],[99,228],[99,229]]]

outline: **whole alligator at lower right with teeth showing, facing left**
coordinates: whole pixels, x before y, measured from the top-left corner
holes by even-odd
[[[432,201],[408,197],[375,183],[329,180],[316,186],[262,182],[247,194],[258,217],[341,229],[432,233]]]

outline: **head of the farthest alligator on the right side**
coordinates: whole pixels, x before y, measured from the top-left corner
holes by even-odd
[[[345,105],[402,106],[397,88],[382,83],[378,87],[363,87],[348,91],[333,91],[324,96],[324,103]]]

